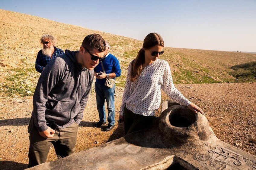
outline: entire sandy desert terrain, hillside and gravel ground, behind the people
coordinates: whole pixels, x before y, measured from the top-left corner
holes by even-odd
[[[111,53],[118,57],[122,69],[115,94],[116,120],[127,66],[142,47],[142,41],[136,39],[0,9],[0,169],[27,167],[27,125],[33,109],[32,95],[40,76],[34,65],[37,52],[42,48],[40,36],[46,33],[55,36],[56,46],[63,50],[78,50],[84,37],[91,33],[99,33],[109,41]],[[251,63],[245,64],[246,68],[254,70],[252,65],[256,54],[171,47],[164,50],[161,58],[170,64],[174,84],[184,96],[204,110],[216,136],[256,155],[256,146],[252,142],[256,136],[255,77],[240,83],[244,80],[235,79],[235,74],[230,74],[236,69],[241,71],[245,63]],[[168,98],[163,94],[165,99]],[[78,152],[123,136],[122,125],[116,123],[113,131],[104,132],[93,127],[97,121],[98,111],[92,89],[79,125]],[[51,148],[47,161],[54,160],[56,156]]]

